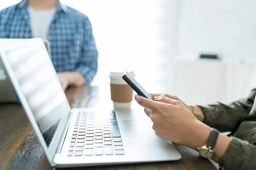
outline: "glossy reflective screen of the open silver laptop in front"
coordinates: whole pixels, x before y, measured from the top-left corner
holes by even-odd
[[[7,59],[49,147],[69,104],[44,46],[6,51]]]

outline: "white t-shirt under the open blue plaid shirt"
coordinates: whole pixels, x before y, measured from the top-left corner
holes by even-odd
[[[37,10],[28,7],[28,10],[33,37],[47,39],[49,26],[52,22],[56,8]]]

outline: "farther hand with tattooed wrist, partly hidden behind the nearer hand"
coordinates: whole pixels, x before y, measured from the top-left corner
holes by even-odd
[[[180,98],[178,98],[177,96],[174,95],[170,95],[170,94],[151,94],[152,98],[154,100],[157,100],[161,97],[168,97],[170,99],[174,99],[174,100],[178,100],[180,101],[184,106],[186,106],[186,108],[189,109],[189,111],[191,111],[193,113],[193,115],[200,120],[201,122],[204,121],[204,113],[202,112],[202,110],[198,107],[198,106],[189,106],[187,105],[185,102],[183,102]]]

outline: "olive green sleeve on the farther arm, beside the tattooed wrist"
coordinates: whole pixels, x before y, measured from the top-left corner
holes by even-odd
[[[214,105],[198,106],[204,113],[205,124],[220,131],[233,131],[242,121],[247,119],[253,107],[255,95],[256,88],[250,91],[246,98],[227,105],[217,102]]]

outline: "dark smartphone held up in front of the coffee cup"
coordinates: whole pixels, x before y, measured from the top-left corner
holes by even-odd
[[[149,94],[145,89],[134,79],[134,77],[127,71],[122,75],[122,78],[127,82],[128,85],[131,86],[134,91],[139,94],[140,96],[143,96],[148,99],[152,99],[151,94]]]

